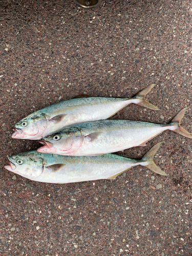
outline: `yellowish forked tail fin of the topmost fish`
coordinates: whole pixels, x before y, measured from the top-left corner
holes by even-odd
[[[147,95],[147,93],[149,93],[152,90],[152,88],[154,88],[154,86],[156,86],[156,84],[152,83],[150,84],[150,86],[145,87],[142,91],[136,94],[135,97],[141,100],[141,102],[137,103],[138,105],[144,106],[145,108],[151,109],[151,110],[159,110],[157,106],[145,100],[145,96]]]

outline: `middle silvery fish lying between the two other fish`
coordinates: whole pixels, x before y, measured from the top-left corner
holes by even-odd
[[[93,156],[123,151],[146,142],[165,130],[192,138],[180,124],[187,108],[181,110],[168,124],[132,120],[99,120],[64,127],[38,142],[37,152],[68,156]]]

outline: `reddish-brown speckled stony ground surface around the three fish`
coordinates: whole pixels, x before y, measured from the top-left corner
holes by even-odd
[[[150,83],[159,112],[130,105],[119,117],[166,123],[189,105],[192,131],[192,4],[103,1],[84,10],[72,0],[0,2],[0,254],[192,255],[191,140],[172,131],[155,161],[167,177],[138,166],[116,180],[45,184],[4,169],[7,156],[36,141],[11,139],[28,114],[79,94],[133,96]]]

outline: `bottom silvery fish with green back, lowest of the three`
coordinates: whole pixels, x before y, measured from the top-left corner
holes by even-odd
[[[115,154],[72,157],[28,151],[8,157],[9,165],[5,168],[27,179],[47,183],[115,179],[137,165],[166,176],[167,174],[153,161],[162,143],[154,145],[140,160]]]

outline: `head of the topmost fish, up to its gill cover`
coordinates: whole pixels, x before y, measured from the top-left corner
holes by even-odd
[[[44,136],[48,122],[45,114],[35,112],[28,117],[20,120],[13,128],[13,139],[31,139],[37,140]]]

